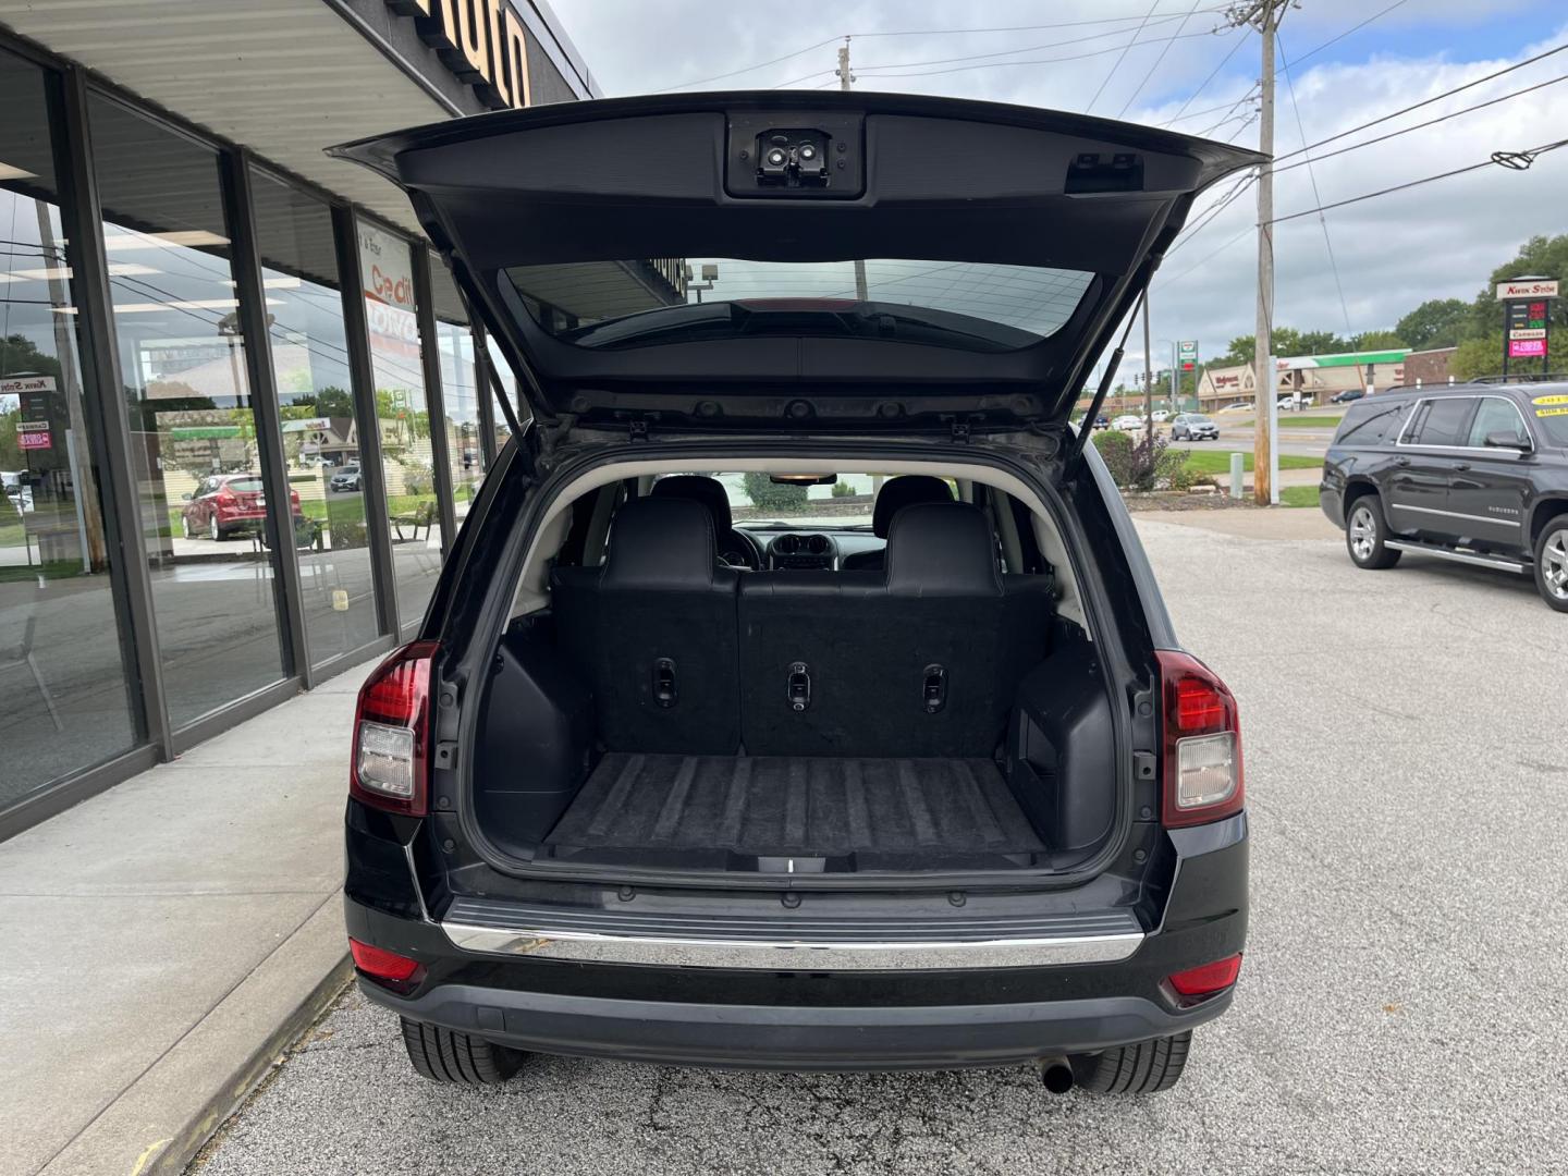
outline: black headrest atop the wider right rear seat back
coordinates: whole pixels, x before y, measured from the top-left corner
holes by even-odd
[[[889,596],[1000,596],[991,522],[967,502],[905,506],[887,536]]]

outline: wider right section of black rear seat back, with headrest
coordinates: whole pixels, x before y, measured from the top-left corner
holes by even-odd
[[[967,503],[898,511],[886,574],[745,575],[746,750],[989,756],[1022,671],[1044,657],[1049,619],[1033,585],[1013,601],[1008,588],[991,527]]]

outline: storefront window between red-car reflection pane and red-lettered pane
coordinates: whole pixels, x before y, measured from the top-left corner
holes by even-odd
[[[306,637],[317,665],[375,640],[359,420],[332,241],[315,198],[251,171]]]

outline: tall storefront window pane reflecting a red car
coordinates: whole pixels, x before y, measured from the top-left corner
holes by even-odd
[[[89,118],[165,695],[182,728],[284,677],[265,502],[287,488],[262,483],[216,152],[102,94]]]

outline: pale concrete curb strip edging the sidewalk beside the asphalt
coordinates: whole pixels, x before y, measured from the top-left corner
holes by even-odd
[[[202,1145],[348,983],[334,892],[168,1052],[110,1102],[42,1176],[163,1176]]]

